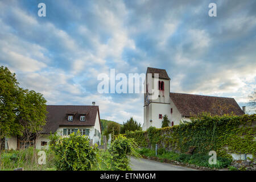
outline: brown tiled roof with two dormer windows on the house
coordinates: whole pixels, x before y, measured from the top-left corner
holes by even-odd
[[[47,105],[46,125],[43,133],[55,133],[60,126],[94,126],[98,106],[76,106],[76,105]],[[73,121],[68,121],[68,114],[73,114]],[[80,115],[85,115],[85,121],[80,121]]]

